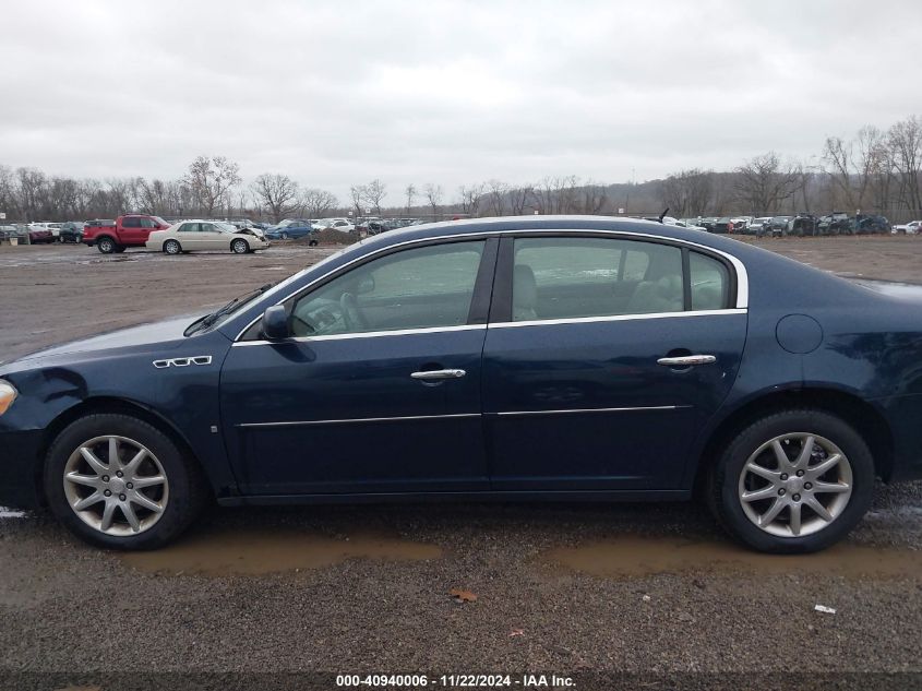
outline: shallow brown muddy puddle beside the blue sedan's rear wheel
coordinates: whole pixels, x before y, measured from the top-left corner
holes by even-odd
[[[658,573],[922,577],[922,551],[858,545],[837,545],[815,555],[761,555],[731,543],[623,536],[554,548],[541,560],[609,579]]]

